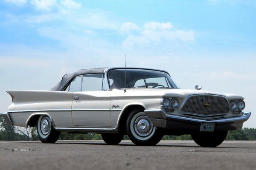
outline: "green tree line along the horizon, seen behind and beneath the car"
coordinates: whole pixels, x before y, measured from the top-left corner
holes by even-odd
[[[17,127],[9,125],[3,119],[0,114],[0,140],[8,141],[38,141],[36,127]],[[96,133],[67,133],[61,132],[59,140],[102,140],[100,134]],[[129,140],[127,135],[124,136],[123,140]],[[162,140],[192,140],[190,135],[182,136],[163,136]],[[256,129],[255,128],[241,128],[238,130],[232,130],[227,133],[225,140],[256,140]]]

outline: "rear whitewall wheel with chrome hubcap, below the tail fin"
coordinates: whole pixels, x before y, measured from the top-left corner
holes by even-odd
[[[41,142],[55,143],[61,132],[52,127],[52,123],[48,116],[41,115],[37,122],[37,133]]]

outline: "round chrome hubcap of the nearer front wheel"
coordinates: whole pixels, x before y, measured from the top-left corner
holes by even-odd
[[[134,122],[134,130],[139,136],[148,136],[153,130],[153,125],[148,116],[140,116]]]

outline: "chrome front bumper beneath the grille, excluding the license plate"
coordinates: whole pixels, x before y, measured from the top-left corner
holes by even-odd
[[[242,127],[243,122],[247,121],[251,115],[251,112],[244,112],[241,116],[204,120],[167,114],[162,109],[145,110],[144,112],[155,127],[174,129],[178,125],[177,128],[184,127],[184,129],[194,130],[198,129],[202,122],[215,123],[216,130],[236,130]]]

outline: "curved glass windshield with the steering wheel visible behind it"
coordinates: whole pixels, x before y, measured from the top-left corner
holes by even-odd
[[[120,88],[177,88],[169,74],[145,69],[114,69],[108,72],[110,89]],[[125,85],[126,84],[126,85]]]

